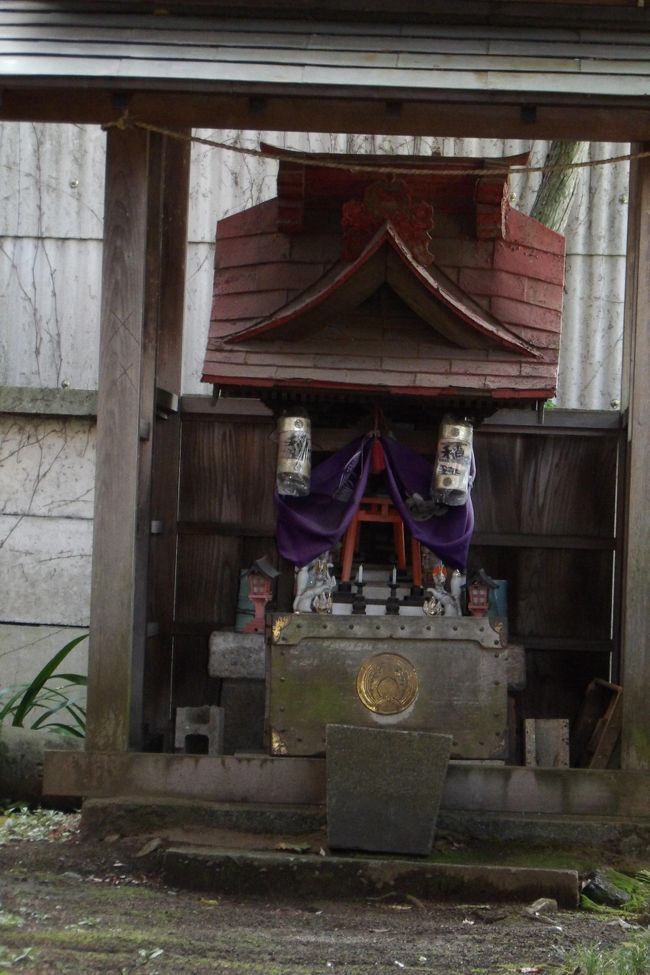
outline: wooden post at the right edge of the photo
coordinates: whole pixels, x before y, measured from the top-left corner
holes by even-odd
[[[643,148],[647,148],[644,146]],[[650,769],[650,159],[632,164],[626,367],[628,478],[622,618],[621,765]]]

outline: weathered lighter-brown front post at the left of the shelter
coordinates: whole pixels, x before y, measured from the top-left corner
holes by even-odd
[[[89,751],[125,751],[142,743],[161,241],[169,182],[165,144],[138,129],[112,128],[107,136]],[[184,273],[184,224],[181,229],[176,246]],[[182,313],[174,334],[180,359]]]

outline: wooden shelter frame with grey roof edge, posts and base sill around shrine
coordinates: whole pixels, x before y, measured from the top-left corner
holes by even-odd
[[[12,0],[0,11],[0,117],[108,127],[88,737],[84,753],[50,754],[46,788],[322,799],[319,760],[143,749],[145,723],[167,719],[182,568],[176,474],[190,128],[577,138],[630,141],[636,153],[619,506],[621,768],[461,767],[450,771],[444,801],[648,815],[650,13],[632,0],[353,7],[172,0],[161,14],[149,0]],[[212,409],[233,419],[234,407]]]

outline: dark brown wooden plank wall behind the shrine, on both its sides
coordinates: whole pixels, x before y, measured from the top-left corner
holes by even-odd
[[[207,641],[211,628],[234,625],[242,568],[266,555],[283,571],[278,607],[291,605],[292,566],[273,537],[272,429],[267,418],[183,419],[176,632],[187,653],[174,659],[176,705],[218,700]],[[608,676],[615,647],[617,434],[482,428],[475,442],[469,569],[508,580],[511,639],[528,659],[520,715],[570,717],[589,681]]]

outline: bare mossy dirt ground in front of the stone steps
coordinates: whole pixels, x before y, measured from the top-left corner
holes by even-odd
[[[581,947],[650,924],[408,896],[205,896],[166,886],[141,837],[85,840],[73,816],[23,833],[0,823],[0,975],[575,975]]]

